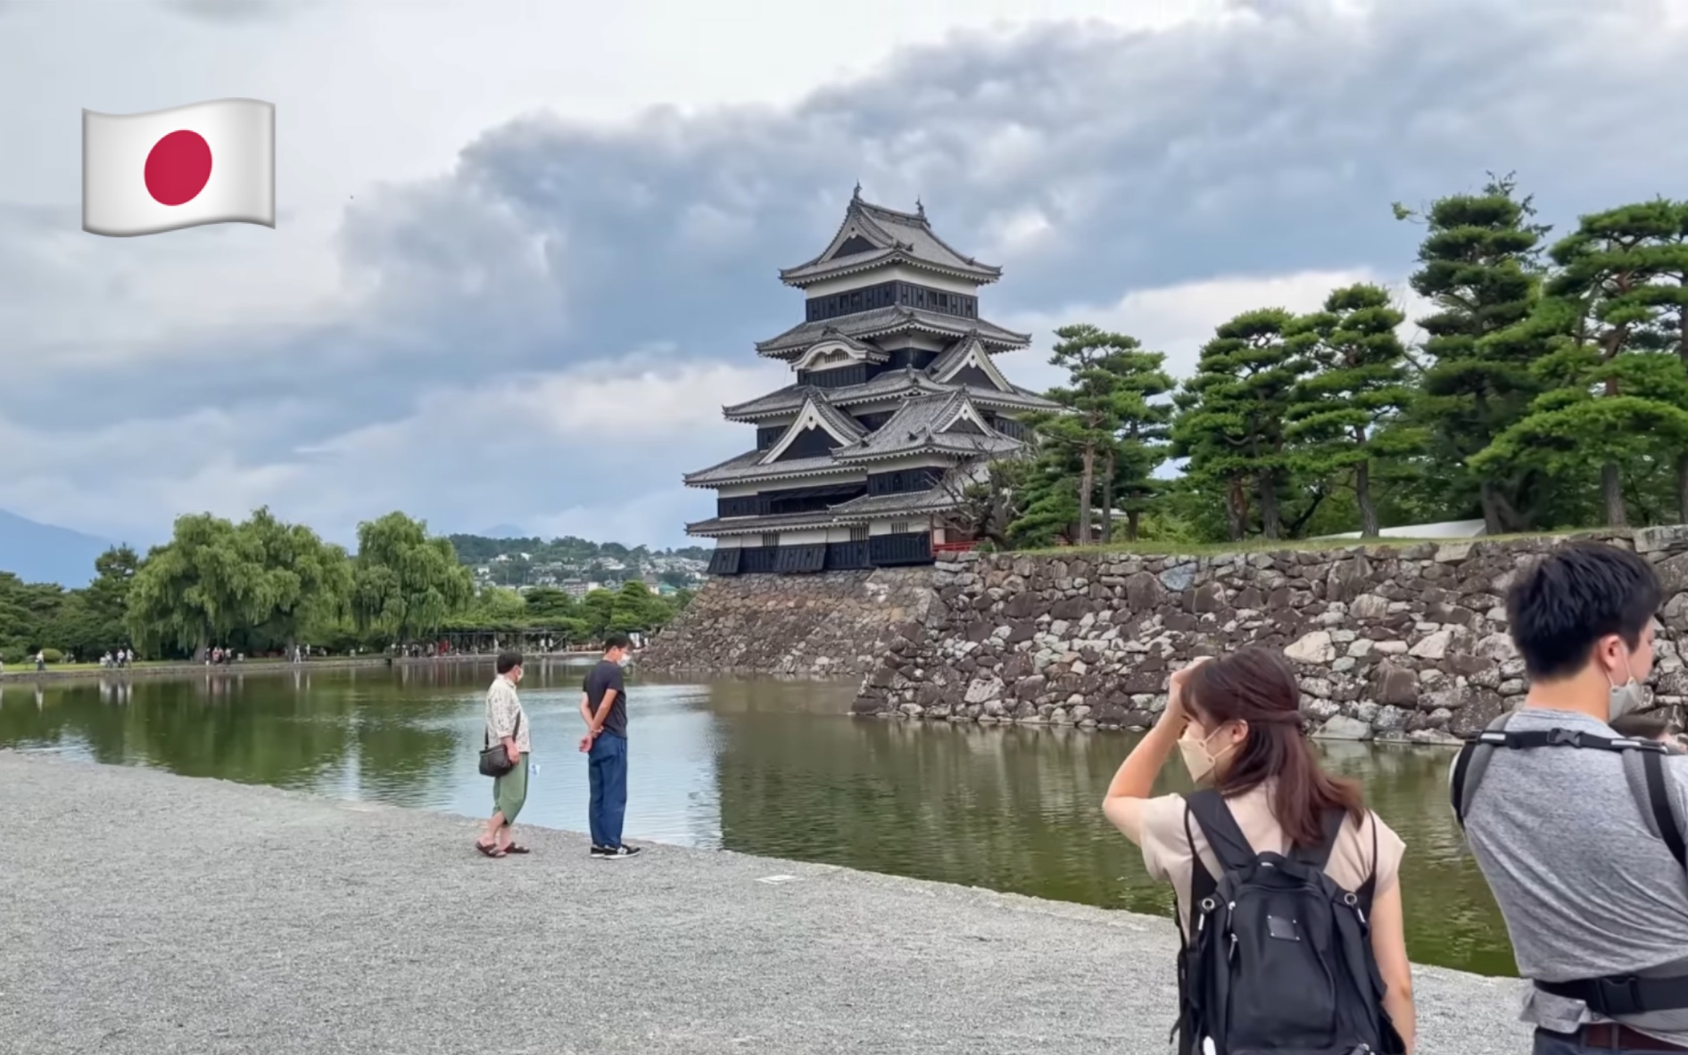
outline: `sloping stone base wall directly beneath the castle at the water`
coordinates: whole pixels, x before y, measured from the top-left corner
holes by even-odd
[[[653,674],[863,677],[890,631],[925,623],[932,567],[711,579],[638,655]]]

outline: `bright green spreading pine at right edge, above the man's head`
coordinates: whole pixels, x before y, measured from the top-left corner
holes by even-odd
[[[1551,255],[1560,270],[1519,329],[1551,341],[1534,373],[1553,387],[1472,464],[1561,478],[1599,468],[1605,522],[1627,527],[1622,466],[1678,463],[1688,451],[1683,208],[1654,201],[1583,216]]]

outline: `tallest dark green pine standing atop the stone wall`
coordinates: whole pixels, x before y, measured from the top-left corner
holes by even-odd
[[[1398,218],[1409,218],[1396,206]],[[1469,463],[1524,417],[1543,385],[1531,366],[1546,353],[1538,334],[1519,331],[1539,292],[1539,241],[1550,228],[1531,221],[1529,197],[1511,176],[1480,194],[1453,194],[1425,213],[1413,289],[1436,304],[1418,321],[1430,363],[1420,376],[1413,417],[1430,432],[1425,478],[1445,511],[1482,510],[1489,533],[1523,532],[1546,498],[1533,468],[1506,471]]]

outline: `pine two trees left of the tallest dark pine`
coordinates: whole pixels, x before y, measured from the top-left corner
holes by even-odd
[[[1202,348],[1197,373],[1175,397],[1173,454],[1188,457],[1197,484],[1219,484],[1232,542],[1249,525],[1249,491],[1259,498],[1261,533],[1283,533],[1280,486],[1288,479],[1285,414],[1300,365],[1285,343],[1295,316],[1278,307],[1222,324]]]

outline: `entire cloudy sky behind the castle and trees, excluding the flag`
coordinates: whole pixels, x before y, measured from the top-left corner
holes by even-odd
[[[707,14],[704,10],[707,8]],[[0,508],[685,544],[852,186],[1094,322],[1406,290],[1391,203],[1688,197],[1688,0],[0,0]],[[81,110],[277,106],[277,226],[81,231]]]

